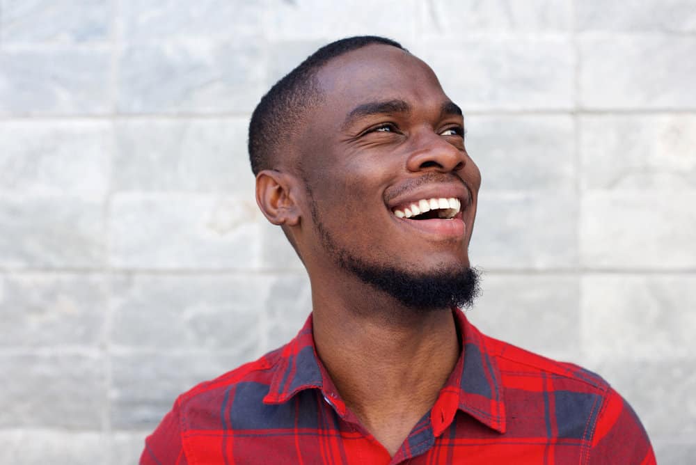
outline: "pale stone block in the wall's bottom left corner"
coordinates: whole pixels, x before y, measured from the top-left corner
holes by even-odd
[[[57,429],[0,431],[0,463],[3,464],[106,464],[109,463],[108,447],[108,439],[98,432],[68,432]]]

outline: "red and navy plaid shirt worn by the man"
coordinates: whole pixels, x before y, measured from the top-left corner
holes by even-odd
[[[640,420],[606,381],[455,316],[459,361],[394,457],[338,395],[310,315],[289,344],[181,395],[141,464],[656,463]]]

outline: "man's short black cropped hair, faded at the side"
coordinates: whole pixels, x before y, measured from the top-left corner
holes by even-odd
[[[337,56],[373,44],[390,45],[408,52],[399,42],[379,36],[336,40],[308,56],[261,98],[249,123],[249,159],[254,175],[271,168],[274,154],[292,135],[304,111],[321,101],[316,82],[319,69]]]

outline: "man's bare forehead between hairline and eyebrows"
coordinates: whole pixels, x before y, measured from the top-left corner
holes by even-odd
[[[439,108],[448,100],[428,65],[388,45],[368,45],[334,58],[319,70],[317,80],[326,97],[324,109],[341,116],[376,100],[405,100],[416,109]]]

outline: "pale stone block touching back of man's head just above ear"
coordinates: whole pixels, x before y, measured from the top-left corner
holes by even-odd
[[[124,120],[116,124],[116,191],[226,191],[254,198],[248,120]]]

